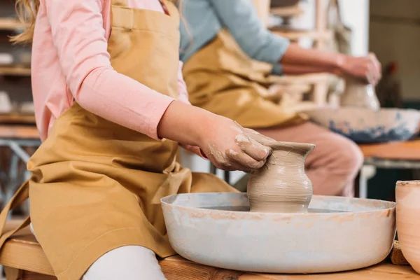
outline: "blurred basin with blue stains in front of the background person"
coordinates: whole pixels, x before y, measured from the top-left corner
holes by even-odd
[[[305,112],[314,123],[356,143],[406,141],[419,130],[420,111],[413,109],[323,108]]]

